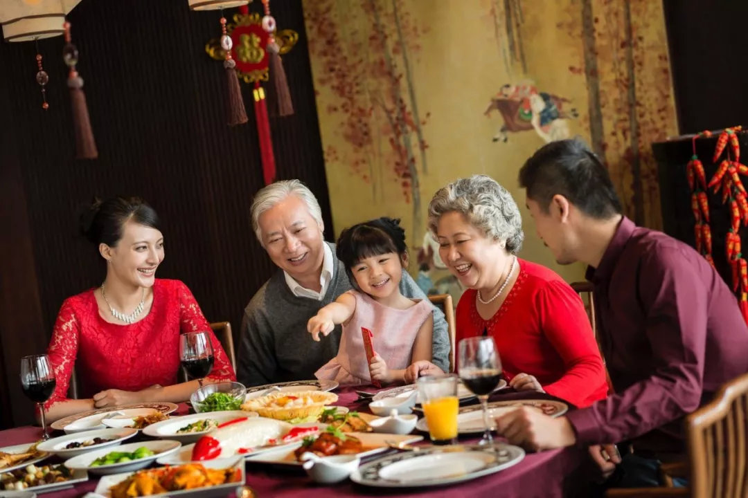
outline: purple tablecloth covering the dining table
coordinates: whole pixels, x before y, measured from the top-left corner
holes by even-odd
[[[356,393],[350,389],[341,390],[338,405],[367,411],[366,404],[356,401]],[[494,395],[497,399],[551,398],[538,393],[504,392]],[[180,411],[186,413],[186,405],[180,405]],[[179,413],[178,412],[178,413]],[[18,427],[0,431],[2,446],[31,443],[41,437],[38,427]],[[470,440],[466,440],[468,442]],[[530,453],[514,467],[501,470],[470,482],[441,488],[423,488],[418,491],[389,490],[385,488],[368,488],[355,485],[350,481],[339,485],[316,485],[307,478],[303,470],[281,470],[261,464],[247,463],[247,484],[257,492],[260,498],[266,497],[569,497],[585,496],[588,459],[586,451],[577,447],[554,451]],[[80,497],[93,491],[98,482],[97,476],[91,474],[90,480],[73,488],[43,497]]]

